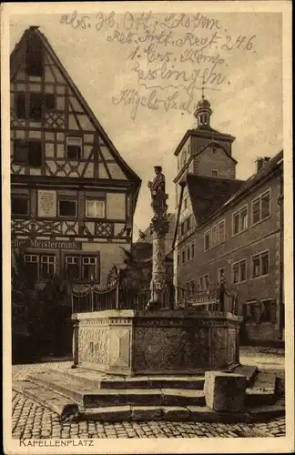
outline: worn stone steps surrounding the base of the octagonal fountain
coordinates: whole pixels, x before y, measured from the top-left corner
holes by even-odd
[[[237,369],[234,371],[237,373]],[[245,410],[216,411],[206,406],[202,376],[110,376],[86,369],[52,369],[15,381],[13,389],[62,419],[100,421],[192,420],[259,421],[284,415],[276,400],[276,375],[241,367],[248,379]],[[272,417],[273,418],[273,417]]]

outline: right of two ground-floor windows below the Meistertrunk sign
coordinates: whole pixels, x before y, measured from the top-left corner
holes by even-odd
[[[66,256],[66,277],[91,281],[98,278],[96,256]]]

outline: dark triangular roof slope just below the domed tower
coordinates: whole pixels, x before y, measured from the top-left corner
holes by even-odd
[[[206,222],[243,183],[243,180],[188,174],[188,194],[198,225]]]

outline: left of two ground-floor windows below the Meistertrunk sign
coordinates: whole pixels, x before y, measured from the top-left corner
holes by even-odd
[[[46,280],[56,273],[55,255],[31,255],[24,256],[25,267],[29,269],[30,276]]]

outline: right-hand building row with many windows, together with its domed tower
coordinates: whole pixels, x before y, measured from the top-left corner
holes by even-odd
[[[175,275],[191,291],[225,277],[239,289],[241,336],[283,338],[283,152],[259,158],[257,172],[235,177],[234,137],[210,126],[209,101],[198,104],[198,127],[179,144]]]

